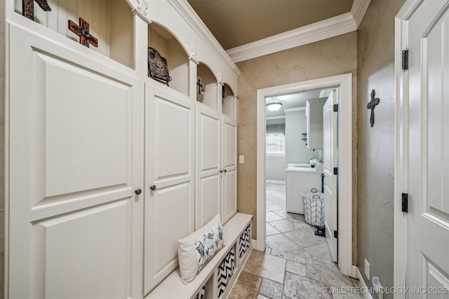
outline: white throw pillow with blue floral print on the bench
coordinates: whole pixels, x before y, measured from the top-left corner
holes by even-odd
[[[225,246],[220,216],[192,234],[177,240],[177,258],[180,263],[182,283],[192,281],[196,273],[217,251]]]

